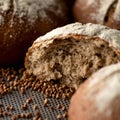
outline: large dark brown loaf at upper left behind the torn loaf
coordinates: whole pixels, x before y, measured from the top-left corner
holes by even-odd
[[[23,62],[32,42],[68,17],[64,0],[0,0],[0,65]]]

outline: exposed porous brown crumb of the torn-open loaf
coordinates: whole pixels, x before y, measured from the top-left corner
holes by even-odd
[[[57,38],[49,46],[38,46],[29,56],[30,69],[43,80],[59,80],[77,88],[92,73],[120,61],[109,44],[91,37]]]

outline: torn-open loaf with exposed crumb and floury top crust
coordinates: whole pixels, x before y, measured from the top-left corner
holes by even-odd
[[[120,31],[73,23],[39,37],[28,49],[25,67],[42,80],[77,88],[96,70],[120,61]]]

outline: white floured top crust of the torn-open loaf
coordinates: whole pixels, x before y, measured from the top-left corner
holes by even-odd
[[[41,40],[53,39],[58,36],[64,37],[70,34],[99,37],[109,42],[113,47],[120,49],[120,31],[92,23],[83,25],[81,23],[72,23],[64,27],[56,28],[46,35],[39,37],[34,44]]]

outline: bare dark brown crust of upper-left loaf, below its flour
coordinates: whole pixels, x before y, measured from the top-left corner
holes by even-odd
[[[38,0],[37,2],[39,4],[40,2],[41,4],[44,4],[44,1],[42,0]],[[3,3],[7,4],[7,2],[4,0]],[[58,7],[56,4],[56,6],[53,8],[54,12],[45,10],[47,17],[50,18],[51,21],[49,21],[48,18],[43,20],[42,16],[36,15],[38,18],[35,19],[34,23],[31,25],[27,16],[19,18],[19,13],[18,15],[17,13],[15,14],[17,6],[14,5],[19,4],[19,0],[17,2],[15,0],[10,0],[10,8],[7,11],[0,11],[0,15],[2,15],[4,18],[3,24],[0,24],[0,65],[19,64],[21,62],[23,63],[27,48],[37,37],[58,26],[62,26],[68,23],[67,6],[65,2],[61,0],[58,0],[58,3],[59,6],[61,6],[61,16],[55,13],[56,8]],[[2,8],[3,7],[4,6],[2,6]]]

